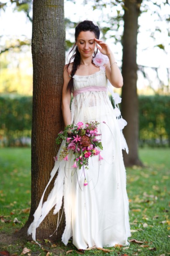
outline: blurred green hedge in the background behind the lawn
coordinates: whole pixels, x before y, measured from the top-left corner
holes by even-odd
[[[31,142],[32,97],[0,97],[0,145]],[[170,146],[170,96],[139,96],[139,144]]]

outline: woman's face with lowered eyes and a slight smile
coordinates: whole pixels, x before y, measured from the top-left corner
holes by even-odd
[[[80,52],[81,57],[88,58],[93,56],[96,48],[96,42],[94,41],[95,34],[91,31],[81,31],[77,36],[76,46]]]

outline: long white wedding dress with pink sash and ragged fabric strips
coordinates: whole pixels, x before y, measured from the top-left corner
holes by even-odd
[[[49,180],[50,183],[58,171],[54,187],[44,203],[42,195],[28,234],[32,233],[35,240],[36,228],[53,206],[54,214],[59,212],[64,197],[66,227],[62,242],[65,245],[72,236],[78,249],[128,245],[130,226],[122,148],[128,149],[121,132],[126,122],[120,118],[119,109],[111,105],[104,69],[89,76],[74,75],[73,81],[72,123],[100,122],[98,132],[101,133],[103,159],[99,161],[99,155],[89,158],[88,169],[85,169],[87,186],[84,186],[83,168],[71,167],[74,164],[72,152],[69,161],[56,161]],[[119,99],[117,97],[118,102]]]

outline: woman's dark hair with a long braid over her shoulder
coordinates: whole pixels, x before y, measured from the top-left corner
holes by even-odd
[[[94,32],[97,39],[99,39],[99,37],[100,37],[99,27],[97,25],[94,25],[93,22],[86,20],[86,21],[80,22],[76,26],[76,28],[75,28],[75,42],[76,42],[77,37],[79,36],[80,32],[82,32],[82,31],[91,31],[91,32]],[[77,70],[78,66],[80,65],[80,52],[79,52],[79,50],[76,46],[76,43],[73,45],[73,48],[70,50],[69,54],[73,50],[74,50],[74,53],[73,53],[72,57],[69,59],[69,63],[67,65],[67,70],[68,70],[70,63],[73,60],[73,69],[72,69],[72,72],[70,74],[71,79],[69,80],[69,83],[67,85],[67,91],[70,91],[70,92],[73,92],[73,76],[76,73],[76,70]],[[94,54],[94,57],[95,57],[96,54],[97,54],[97,51]]]

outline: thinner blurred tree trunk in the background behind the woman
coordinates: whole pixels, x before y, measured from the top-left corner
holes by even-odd
[[[121,111],[123,118],[128,122],[124,135],[128,144],[129,153],[124,153],[125,166],[142,165],[138,156],[139,140],[139,112],[137,95],[137,34],[138,17],[142,0],[126,0],[124,14],[123,33],[123,62],[122,75],[124,86],[122,87]]]

